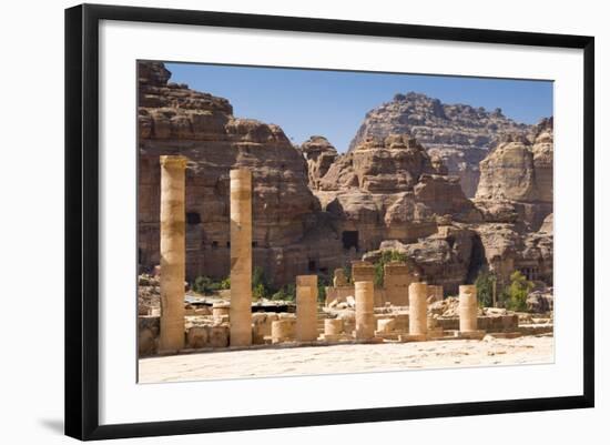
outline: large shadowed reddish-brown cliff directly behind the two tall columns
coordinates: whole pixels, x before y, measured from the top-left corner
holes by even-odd
[[[254,265],[277,284],[324,261],[340,262],[339,235],[319,215],[302,153],[277,125],[236,119],[225,99],[169,83],[162,63],[139,64],[139,257],[159,264],[162,154],[186,169],[186,276],[224,277],[230,269],[228,173],[253,173]],[[314,230],[315,227],[315,230]],[[337,254],[338,252],[338,254]]]

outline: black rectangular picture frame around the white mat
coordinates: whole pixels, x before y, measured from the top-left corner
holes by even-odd
[[[577,396],[100,425],[99,23],[155,22],[583,50],[583,393]],[[592,407],[594,39],[398,23],[82,4],[65,10],[65,434],[79,439],[156,436]]]

